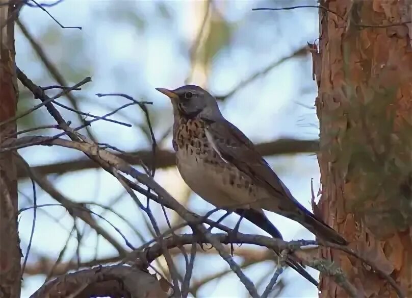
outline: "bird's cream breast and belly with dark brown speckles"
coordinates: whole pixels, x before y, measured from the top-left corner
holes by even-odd
[[[224,208],[248,203],[256,195],[250,178],[222,160],[209,144],[202,120],[175,123],[173,147],[182,178],[204,200]]]

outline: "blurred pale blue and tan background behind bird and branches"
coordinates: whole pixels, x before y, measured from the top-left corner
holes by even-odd
[[[43,1],[43,3],[52,3]],[[104,115],[127,103],[121,97],[101,97],[96,93],[126,93],[136,100],[153,102],[148,106],[153,130],[161,151],[171,151],[172,109],[166,96],[155,87],[174,89],[196,84],[220,97],[223,115],[254,143],[279,138],[317,140],[318,119],[314,109],[317,96],[312,80],[312,58],[305,51],[307,42],[319,37],[318,10],[301,8],[285,11],[252,11],[252,8],[316,5],[315,1],[98,1],[64,0],[45,7],[63,26],[62,29],[39,8],[24,7],[16,28],[18,67],[40,86],[71,86],[85,77],[92,82],[73,91],[58,102],[93,115]],[[38,100],[20,86],[19,112],[38,104]],[[54,95],[59,91],[46,91]],[[72,127],[82,124],[78,114],[59,108]],[[131,128],[107,121],[93,122],[88,131],[100,143],[109,143],[125,152],[150,151],[151,140],[144,114],[137,106],[111,117],[130,123]],[[18,129],[53,125],[54,119],[42,108],[19,119]],[[53,135],[56,130],[35,134]],[[306,208],[311,209],[311,179],[315,194],[319,189],[319,169],[313,153],[269,155],[267,161]],[[90,168],[85,156],[61,147],[38,146],[19,150],[33,166],[54,165],[43,173],[48,182],[73,202],[94,202],[110,206],[123,219],[97,205],[88,205],[96,214],[112,223],[135,246],[153,238],[147,217],[133,203],[118,181],[104,170]],[[73,167],[74,161],[76,167]],[[214,207],[193,194],[170,163],[158,168],[155,179],[191,211],[204,214]],[[59,169],[59,170],[56,170]],[[57,202],[36,186],[37,204]],[[145,197],[139,196],[142,202]],[[31,181],[19,180],[20,208],[33,205]],[[162,209],[151,203],[162,231],[168,229]],[[216,212],[212,219],[219,218]],[[286,240],[314,239],[298,223],[267,213]],[[181,219],[168,210],[172,226]],[[223,223],[234,227],[237,215]],[[124,240],[109,223],[95,216],[101,229],[126,249]],[[21,213],[19,233],[25,254],[30,239],[33,210]],[[74,228],[73,228],[74,227]],[[180,232],[190,232],[182,229]],[[214,230],[215,232],[215,230]],[[240,232],[264,231],[243,220]],[[36,227],[22,297],[39,288],[49,268],[75,263],[98,264],[113,260],[115,247],[98,236],[84,221],[59,206],[37,211]],[[174,255],[177,268],[184,274],[184,258]],[[259,247],[235,246],[235,260],[245,274],[263,291],[275,270],[271,255]],[[153,263],[167,276],[163,258]],[[67,265],[68,266],[68,265]],[[310,271],[315,277],[317,271]],[[196,256],[191,295],[198,297],[247,297],[245,287],[214,250],[199,251]],[[287,269],[272,296],[317,297],[317,288]]]

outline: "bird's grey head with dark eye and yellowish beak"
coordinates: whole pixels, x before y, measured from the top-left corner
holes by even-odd
[[[156,88],[169,96],[175,117],[194,118],[196,116],[215,118],[221,116],[216,98],[196,85],[185,85],[174,90]]]

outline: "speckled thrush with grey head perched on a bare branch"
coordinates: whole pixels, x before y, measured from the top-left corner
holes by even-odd
[[[245,216],[272,237],[281,235],[263,210],[295,220],[323,240],[348,244],[296,200],[253,142],[224,118],[213,95],[196,85],[156,90],[170,98],[176,166],[195,193]]]

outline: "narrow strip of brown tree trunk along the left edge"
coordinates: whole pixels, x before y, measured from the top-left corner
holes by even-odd
[[[9,3],[9,4],[7,4]],[[14,5],[15,4],[15,5]],[[17,1],[0,0],[0,123],[16,115],[17,79],[14,20]],[[0,126],[0,145],[16,133],[16,121]],[[20,245],[17,230],[17,176],[14,156],[0,153],[0,297],[20,297]]]

